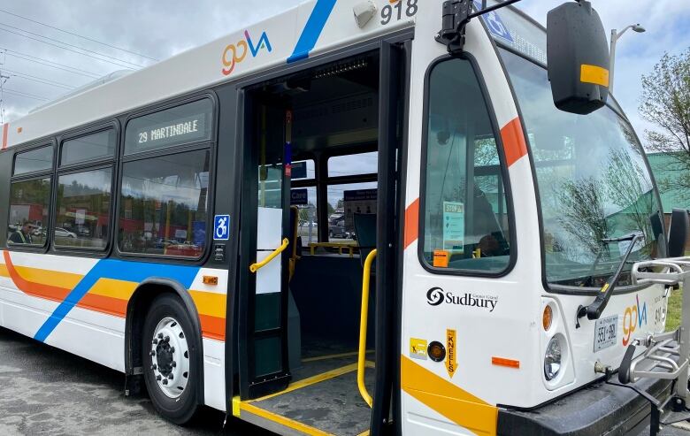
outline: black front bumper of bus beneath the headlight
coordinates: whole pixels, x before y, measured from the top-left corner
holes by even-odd
[[[671,394],[669,380],[640,379],[635,386],[661,401]],[[499,409],[498,434],[638,434],[650,414],[651,404],[632,389],[597,382],[537,409]]]

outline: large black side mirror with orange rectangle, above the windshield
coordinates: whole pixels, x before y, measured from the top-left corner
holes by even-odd
[[[548,80],[556,107],[586,115],[609,96],[609,47],[599,14],[586,0],[547,14]]]

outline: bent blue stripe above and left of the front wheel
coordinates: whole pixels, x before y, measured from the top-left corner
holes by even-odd
[[[65,301],[61,302],[53,310],[50,317],[45,320],[34,339],[44,342],[50,333],[62,322],[67,314],[78,302],[96,285],[99,279],[115,279],[141,283],[151,277],[173,279],[188,289],[192,286],[199,267],[180,266],[171,264],[144,264],[140,262],[126,262],[121,260],[103,259],[99,261],[87,275],[80,280],[76,287],[67,294]]]

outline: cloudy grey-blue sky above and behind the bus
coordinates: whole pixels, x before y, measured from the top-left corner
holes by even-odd
[[[9,76],[3,79],[4,119],[17,119],[106,73],[150,65],[298,3],[4,0],[0,72]],[[518,5],[545,23],[546,12],[561,3],[523,0]],[[637,22],[647,28],[645,34],[629,31],[621,38],[616,60],[616,95],[641,136],[647,125],[637,111],[640,75],[651,71],[664,50],[677,54],[690,47],[690,2],[656,0],[645,7],[630,0],[593,4],[607,29]]]

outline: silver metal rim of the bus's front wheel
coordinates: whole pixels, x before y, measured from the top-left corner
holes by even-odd
[[[150,356],[158,387],[169,398],[178,398],[189,381],[189,347],[187,334],[174,318],[165,317],[156,326]]]

